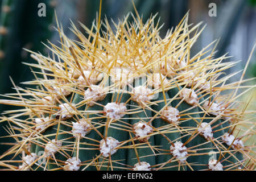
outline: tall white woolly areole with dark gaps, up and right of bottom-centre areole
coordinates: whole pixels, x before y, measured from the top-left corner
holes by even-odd
[[[170,147],[172,155],[179,160],[179,162],[184,163],[185,160],[187,160],[187,147],[183,146],[182,142],[176,141],[174,143],[174,146]]]

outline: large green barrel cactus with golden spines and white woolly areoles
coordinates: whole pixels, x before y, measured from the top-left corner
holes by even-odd
[[[129,16],[133,22],[127,22]],[[30,85],[6,94],[1,104],[19,106],[1,122],[16,140],[0,166],[11,170],[247,170],[254,169],[254,135],[238,98],[253,86],[226,83],[236,63],[214,58],[214,42],[191,56],[202,30],[188,14],[162,38],[151,16],[128,14],[72,23],[78,40],[60,33],[52,56],[32,52],[40,69]],[[102,31],[100,31],[102,24]],[[239,89],[246,89],[238,92]],[[226,92],[226,91],[232,92]],[[239,93],[239,94],[238,94]],[[240,126],[246,126],[241,128]],[[18,156],[18,159],[17,159]],[[18,164],[18,165],[17,165]]]

